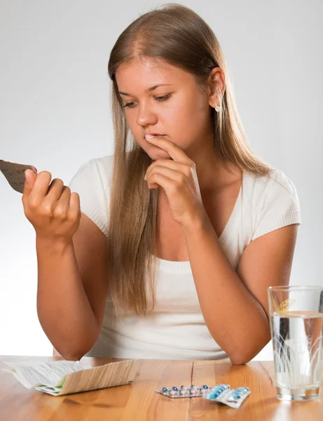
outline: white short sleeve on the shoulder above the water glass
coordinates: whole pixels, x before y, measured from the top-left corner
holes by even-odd
[[[301,209],[296,187],[282,171],[268,175],[256,207],[252,240],[292,224],[301,224]]]

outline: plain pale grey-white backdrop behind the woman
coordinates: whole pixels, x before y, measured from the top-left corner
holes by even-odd
[[[322,0],[181,1],[212,27],[256,154],[294,182],[302,222],[291,283],[322,285]],[[67,185],[113,153],[106,66],[155,1],[1,0],[0,159]],[[50,355],[36,315],[34,228],[0,175],[0,354]],[[57,323],[63,321],[57,320]],[[269,344],[257,359],[272,359]]]

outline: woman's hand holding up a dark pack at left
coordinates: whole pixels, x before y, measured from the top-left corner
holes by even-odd
[[[39,239],[70,242],[81,220],[80,198],[48,171],[25,171],[22,203]]]

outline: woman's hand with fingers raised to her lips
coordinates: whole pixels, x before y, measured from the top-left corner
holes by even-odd
[[[146,171],[149,189],[163,187],[170,203],[173,218],[188,227],[205,215],[195,163],[174,142],[165,138],[147,139],[170,154],[173,159],[157,159]]]

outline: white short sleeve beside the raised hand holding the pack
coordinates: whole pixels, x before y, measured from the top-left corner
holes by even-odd
[[[69,182],[71,192],[80,196],[81,212],[107,236],[109,194],[113,156],[91,159],[78,169]]]

